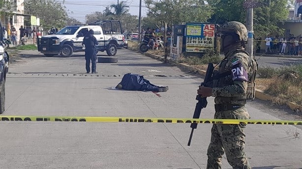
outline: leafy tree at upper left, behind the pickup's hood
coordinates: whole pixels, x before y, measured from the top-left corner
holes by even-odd
[[[64,27],[68,20],[65,6],[54,0],[26,0],[25,13],[40,18],[44,27]]]

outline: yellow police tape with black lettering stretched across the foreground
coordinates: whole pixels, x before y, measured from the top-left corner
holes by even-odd
[[[290,124],[302,121],[184,119],[184,118],[129,118],[129,117],[59,117],[59,116],[0,116],[0,121],[86,121],[86,122],[165,122],[165,123],[220,123],[220,124]]]

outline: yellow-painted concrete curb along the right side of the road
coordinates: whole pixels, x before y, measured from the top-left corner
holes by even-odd
[[[144,54],[146,56],[149,56],[149,57],[154,58],[154,59],[158,59],[158,60],[161,60],[161,61],[164,60],[164,57],[162,57],[162,56],[157,56],[157,55],[154,55],[154,54],[151,54],[151,53],[144,53]],[[193,68],[193,67],[191,67],[189,65],[186,65],[186,64],[183,64],[183,63],[180,63],[178,65],[181,66],[181,67],[184,67],[186,69],[189,69],[191,71],[198,72],[199,74],[206,75],[206,71],[204,71],[204,70],[196,69],[196,68]],[[272,96],[270,96],[268,94],[265,94],[262,90],[259,90],[259,89],[256,89],[255,97],[260,99],[260,100],[270,100],[270,101],[273,100]],[[296,103],[289,102],[289,101],[286,102],[286,105],[288,105],[293,111],[302,112],[302,106],[301,105],[298,105]]]

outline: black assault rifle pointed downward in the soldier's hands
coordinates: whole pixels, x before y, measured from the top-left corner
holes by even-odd
[[[206,72],[206,76],[205,76],[205,80],[204,80],[204,82],[202,82],[200,84],[201,86],[207,86],[206,84],[212,80],[211,78],[212,78],[213,70],[214,70],[213,64],[209,63],[208,69]],[[198,103],[196,103],[196,106],[195,106],[193,119],[199,119],[201,109],[207,107],[207,104],[208,104],[207,97],[201,97],[200,95],[197,95],[196,100],[198,100]],[[192,131],[191,131],[191,135],[189,138],[188,146],[190,146],[190,144],[191,144],[193,132],[194,132],[194,129],[197,128],[197,123],[191,123],[191,128],[192,128]]]

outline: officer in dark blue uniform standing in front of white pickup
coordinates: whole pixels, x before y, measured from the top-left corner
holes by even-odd
[[[83,44],[85,45],[85,59],[86,59],[86,71],[90,73],[90,60],[91,60],[91,73],[96,72],[96,45],[98,44],[96,38],[93,36],[94,31],[89,30],[84,36]]]

